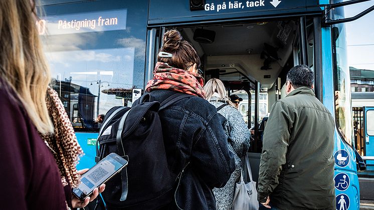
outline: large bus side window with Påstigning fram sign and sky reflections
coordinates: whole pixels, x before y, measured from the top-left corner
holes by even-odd
[[[97,131],[98,115],[132,103],[143,89],[147,1],[44,6],[46,57],[53,88],[80,131]],[[66,23],[66,24],[65,24]]]

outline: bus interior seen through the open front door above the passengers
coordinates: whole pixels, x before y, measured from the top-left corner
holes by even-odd
[[[300,30],[300,26],[305,30]],[[271,106],[285,97],[282,86],[287,72],[298,64],[308,64],[313,69],[312,26],[313,19],[301,18],[174,27],[201,57],[205,80],[218,78],[225,84],[228,96],[236,94],[243,98],[239,111],[248,128],[253,130],[249,152],[257,153],[258,158]],[[301,42],[307,42],[304,53]],[[307,58],[305,61],[302,54]]]

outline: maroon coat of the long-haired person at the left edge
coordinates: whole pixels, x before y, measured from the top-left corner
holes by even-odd
[[[0,208],[66,209],[56,161],[0,78]]]

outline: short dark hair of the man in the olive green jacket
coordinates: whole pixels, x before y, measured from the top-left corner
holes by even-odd
[[[314,72],[306,65],[297,65],[287,73],[287,81],[295,89],[303,86],[311,88],[314,83]]]

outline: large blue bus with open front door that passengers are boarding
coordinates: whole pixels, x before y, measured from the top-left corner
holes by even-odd
[[[344,22],[374,8],[346,18],[344,7],[364,1],[41,0],[44,15],[36,24],[53,88],[85,152],[77,167],[95,163],[101,125],[96,117],[113,106],[131,106],[144,92],[162,34],[177,29],[201,57],[206,80],[220,78],[228,94],[246,96],[248,104],[242,107],[248,110],[241,111],[253,129],[249,155],[255,177],[262,149],[261,118],[268,114],[260,114],[260,97],[266,95],[266,106],[271,107],[285,96],[289,69],[298,64],[311,67],[316,97],[335,119],[337,209],[359,209],[357,170],[365,165],[352,143]]]

